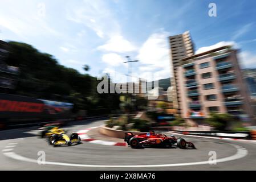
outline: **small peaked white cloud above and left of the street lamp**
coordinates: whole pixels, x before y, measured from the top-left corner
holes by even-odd
[[[112,52],[131,52],[135,51],[136,47],[133,46],[128,40],[124,39],[123,36],[113,36],[103,46],[97,47],[101,51],[112,51]]]

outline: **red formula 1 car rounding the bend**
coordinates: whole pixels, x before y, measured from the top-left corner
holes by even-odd
[[[179,148],[196,148],[192,142],[186,142],[183,138],[177,138],[171,135],[156,133],[151,131],[149,133],[133,135],[131,132],[125,133],[124,141],[132,148],[138,147],[172,147]]]

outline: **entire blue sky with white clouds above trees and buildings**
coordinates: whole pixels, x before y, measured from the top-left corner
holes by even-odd
[[[217,17],[208,15],[216,3]],[[1,0],[0,39],[31,44],[60,64],[126,80],[125,56],[135,77],[166,78],[168,36],[190,31],[196,49],[234,44],[243,68],[256,67],[256,1]],[[209,47],[212,46],[212,47]]]

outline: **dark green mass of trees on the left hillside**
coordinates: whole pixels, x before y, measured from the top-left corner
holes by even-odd
[[[60,65],[54,56],[39,52],[26,43],[9,42],[6,63],[19,67],[19,81],[14,94],[71,102],[74,111],[84,109],[88,114],[105,114],[119,108],[116,94],[97,93],[98,80],[73,68]],[[89,71],[89,65],[83,69]]]

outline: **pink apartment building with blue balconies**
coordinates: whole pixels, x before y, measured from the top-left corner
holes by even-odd
[[[253,121],[236,49],[224,46],[185,57],[181,62],[184,64],[177,68],[177,94],[182,118],[198,124],[217,111]]]

